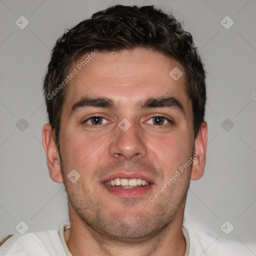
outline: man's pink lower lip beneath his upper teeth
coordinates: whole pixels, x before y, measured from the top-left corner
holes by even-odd
[[[119,197],[136,197],[139,195],[143,195],[152,187],[152,184],[134,188],[121,188],[118,186],[106,185],[104,183],[102,184],[110,193],[115,194]]]

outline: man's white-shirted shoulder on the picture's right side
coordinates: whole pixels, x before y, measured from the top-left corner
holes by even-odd
[[[253,256],[249,248],[237,241],[222,238],[218,234],[192,223],[185,224],[189,236],[189,256]]]

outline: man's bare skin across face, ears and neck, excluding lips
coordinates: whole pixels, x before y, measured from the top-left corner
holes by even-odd
[[[169,75],[174,67],[183,72],[178,80]],[[64,182],[68,194],[71,229],[65,239],[74,256],[184,255],[186,194],[190,179],[203,174],[207,143],[206,122],[193,138],[192,105],[184,79],[179,62],[151,49],[135,48],[97,53],[68,83],[61,112],[60,155],[55,156],[49,124],[43,127],[43,146],[51,179]],[[116,109],[89,106],[69,116],[72,105],[83,96],[111,98]],[[135,107],[148,97],[166,96],[175,97],[184,114],[175,107]],[[93,125],[87,119],[95,114],[104,117],[102,124],[86,126]],[[157,114],[173,123],[163,119],[163,124],[156,125]],[[125,132],[118,127],[123,118],[131,124]],[[195,152],[200,155],[193,164],[151,202],[149,196]],[[72,169],[80,175],[74,183],[66,176]],[[140,196],[119,197],[100,183],[118,171],[139,172],[151,178],[153,185]]]

